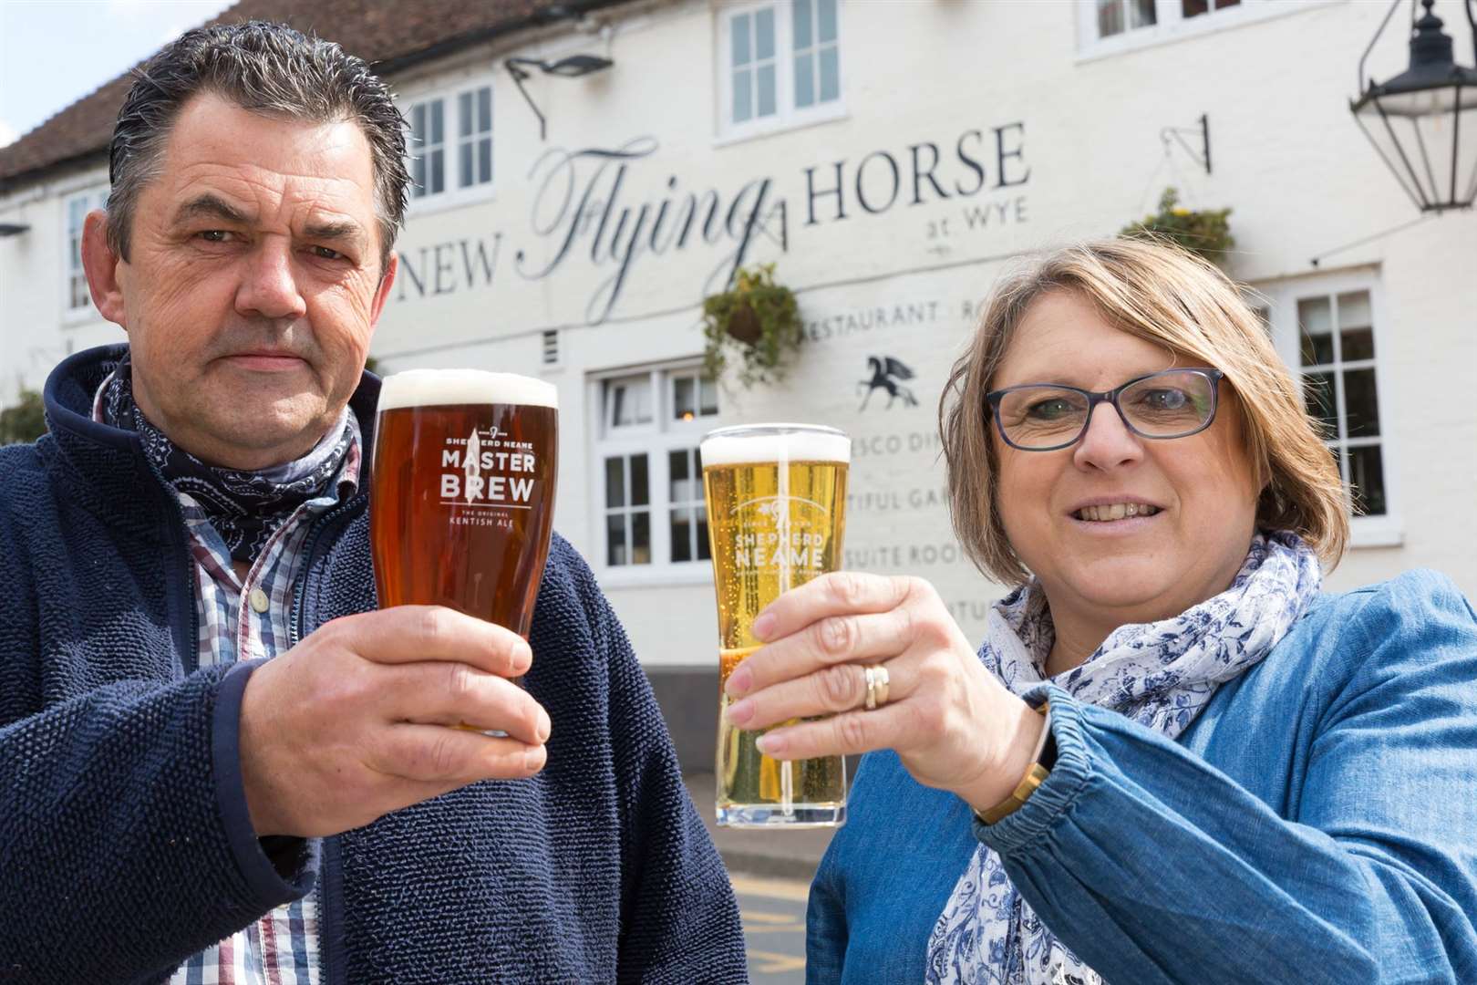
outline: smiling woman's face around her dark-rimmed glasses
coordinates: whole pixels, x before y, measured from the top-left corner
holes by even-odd
[[[1118,331],[1086,297],[1055,291],[1027,309],[991,388],[1112,390],[1176,365],[1189,363]],[[1022,452],[991,433],[1006,535],[1059,622],[1068,610],[1114,626],[1167,619],[1224,591],[1245,560],[1260,483],[1224,382],[1214,422],[1189,437],[1139,437],[1108,403],[1077,445],[1055,452]],[[1127,504],[1140,515],[1089,518]],[[1145,505],[1158,511],[1142,515]]]

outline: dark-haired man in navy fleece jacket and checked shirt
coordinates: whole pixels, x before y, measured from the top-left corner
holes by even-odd
[[[58,366],[52,434],[0,450],[0,981],[746,976],[564,540],[532,647],[374,611],[402,126],[363,62],[269,24],[185,34],[120,112],[84,263],[128,346]]]

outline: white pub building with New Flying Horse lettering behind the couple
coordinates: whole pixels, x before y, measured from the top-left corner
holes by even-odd
[[[555,529],[625,623],[684,768],[706,771],[718,635],[703,433],[848,431],[846,567],[931,580],[979,639],[1003,589],[950,529],[936,433],[950,365],[1015,257],[1112,235],[1167,188],[1180,208],[1232,210],[1223,266],[1329,422],[1363,509],[1329,586],[1431,566],[1477,597],[1477,213],[1422,213],[1350,112],[1365,75],[1406,69],[1403,7],[1359,65],[1385,13],[244,0],[222,16],[312,28],[390,80],[417,185],[377,365],[558,388]],[[1434,13],[1471,61],[1459,4]],[[66,353],[123,337],[90,307],[77,242],[108,191],[126,87],[0,149],[0,405]],[[1477,128],[1464,168],[1474,146]],[[709,380],[703,298],[755,264],[793,291],[803,343],[780,382]]]

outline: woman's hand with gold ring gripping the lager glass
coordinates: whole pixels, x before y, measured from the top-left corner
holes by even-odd
[[[829,716],[767,732],[758,744],[768,756],[895,749],[914,780],[979,809],[1004,800],[1031,765],[1041,716],[985,670],[923,579],[823,574],[759,613],[753,635],[765,647],[728,676],[725,691],[741,699],[728,719],[761,730]],[[868,712],[866,666],[876,663],[888,669],[888,703]]]

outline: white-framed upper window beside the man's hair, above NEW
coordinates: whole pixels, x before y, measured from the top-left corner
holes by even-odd
[[[411,103],[411,199],[492,186],[492,86]]]

